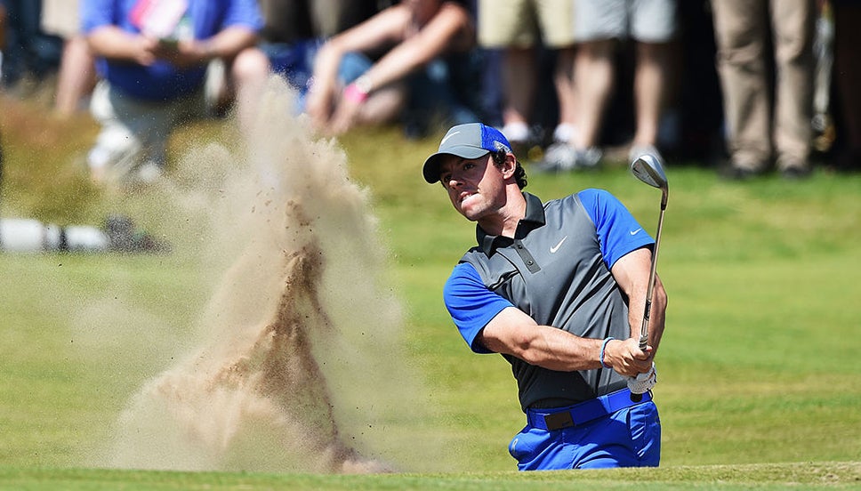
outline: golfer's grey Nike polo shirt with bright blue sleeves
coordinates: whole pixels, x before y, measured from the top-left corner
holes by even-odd
[[[523,193],[526,216],[514,237],[487,235],[463,255],[446,282],[446,307],[463,339],[477,353],[481,329],[506,307],[539,325],[587,338],[627,339],[628,304],[610,273],[616,261],[655,240],[605,190],[584,189],[549,201]],[[518,382],[520,406],[567,406],[623,389],[612,369],[557,372],[503,355]]]

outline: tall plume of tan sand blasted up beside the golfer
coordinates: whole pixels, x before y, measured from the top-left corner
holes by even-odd
[[[428,391],[406,354],[368,193],[350,181],[342,149],[292,115],[294,93],[278,77],[261,98],[245,139],[189,149],[152,191],[212,295],[182,352],[130,398],[96,464],[434,470],[442,443],[422,427]],[[101,307],[76,324],[92,330]],[[110,326],[122,323],[114,314]],[[157,314],[141,325],[157,333]]]

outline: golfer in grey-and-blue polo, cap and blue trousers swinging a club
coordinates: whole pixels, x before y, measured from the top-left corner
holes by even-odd
[[[654,240],[607,191],[546,203],[523,192],[509,141],[486,125],[451,128],[423,174],[477,223],[478,245],[443,296],[471,350],[511,363],[527,415],[509,447],[519,470],[656,466],[661,425],[648,390],[667,303],[657,278],[639,347]],[[640,402],[632,390],[645,392]]]

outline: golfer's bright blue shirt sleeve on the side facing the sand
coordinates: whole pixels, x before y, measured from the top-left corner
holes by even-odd
[[[512,307],[511,302],[488,290],[479,278],[479,272],[466,262],[455,266],[448,277],[443,287],[443,299],[463,341],[476,353],[491,353],[475,338],[496,314],[506,307]]]

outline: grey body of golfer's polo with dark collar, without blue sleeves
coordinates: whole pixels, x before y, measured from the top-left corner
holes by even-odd
[[[627,299],[604,263],[598,231],[576,195],[542,205],[528,193],[527,213],[515,237],[488,236],[463,255],[488,289],[503,296],[540,325],[587,338],[627,339]],[[558,372],[503,355],[518,382],[525,410],[539,401],[560,406],[625,387],[612,369]]]

